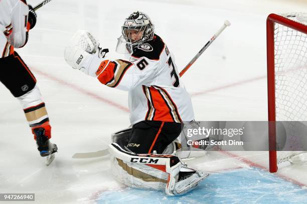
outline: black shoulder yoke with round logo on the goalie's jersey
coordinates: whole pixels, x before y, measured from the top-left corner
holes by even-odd
[[[140,58],[142,56],[152,60],[159,60],[161,52],[163,51],[165,43],[157,34],[154,35],[154,39],[146,41],[140,44],[133,50],[132,57]]]

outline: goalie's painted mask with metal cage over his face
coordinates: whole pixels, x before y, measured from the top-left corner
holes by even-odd
[[[154,24],[149,16],[140,11],[130,14],[121,27],[122,36],[126,41],[127,48],[130,49],[129,52],[134,47],[154,38],[154,32]]]

